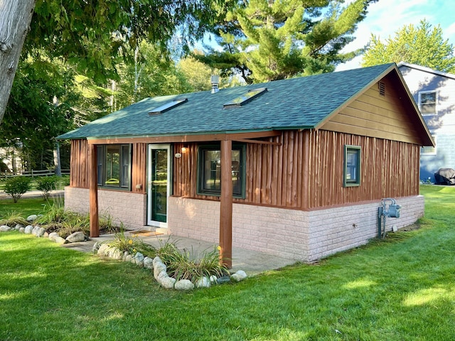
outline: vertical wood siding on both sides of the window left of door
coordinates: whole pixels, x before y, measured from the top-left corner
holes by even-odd
[[[71,140],[70,186],[89,188],[87,140]],[[146,193],[147,144],[132,144],[132,193]],[[137,185],[141,185],[137,188]]]

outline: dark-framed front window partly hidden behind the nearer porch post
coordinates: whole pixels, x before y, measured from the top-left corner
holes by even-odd
[[[232,195],[245,197],[245,145],[232,145]],[[200,146],[198,154],[198,194],[220,195],[220,146]]]

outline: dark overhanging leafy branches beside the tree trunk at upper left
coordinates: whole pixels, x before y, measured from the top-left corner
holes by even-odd
[[[210,26],[220,0],[38,0],[26,48],[45,49],[97,82],[117,79],[118,58],[147,40],[165,52],[178,33],[187,47]]]

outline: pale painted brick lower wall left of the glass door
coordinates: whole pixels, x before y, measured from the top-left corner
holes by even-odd
[[[142,229],[146,224],[146,195],[98,190],[98,211],[100,215],[111,215],[116,224],[123,222],[127,229]],[[65,188],[65,208],[88,213],[90,207],[89,190],[86,188]]]

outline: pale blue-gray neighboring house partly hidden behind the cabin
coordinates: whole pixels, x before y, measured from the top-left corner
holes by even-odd
[[[398,68],[436,143],[420,152],[420,179],[434,183],[439,168],[455,168],[455,75],[404,62]]]

